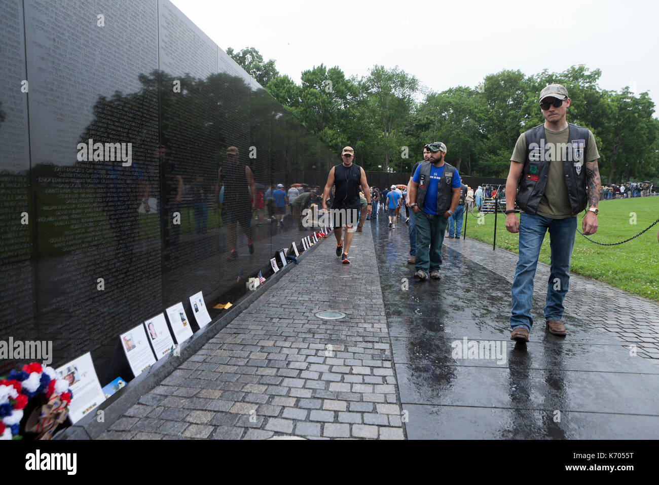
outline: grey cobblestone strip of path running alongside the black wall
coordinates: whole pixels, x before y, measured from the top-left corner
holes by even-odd
[[[330,235],[100,438],[403,439],[368,225],[350,256]]]

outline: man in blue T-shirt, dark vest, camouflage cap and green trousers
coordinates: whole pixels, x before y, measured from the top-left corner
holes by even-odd
[[[430,160],[416,167],[409,183],[410,209],[415,212],[416,219],[414,276],[420,280],[439,280],[446,224],[455,213],[461,183],[455,167],[444,162],[446,145],[435,142],[426,146],[430,150]]]

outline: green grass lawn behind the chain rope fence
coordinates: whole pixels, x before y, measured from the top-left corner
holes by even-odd
[[[601,243],[614,243],[631,238],[659,218],[659,197],[600,201],[598,207],[600,209],[600,214],[597,216],[598,230],[588,237]],[[635,213],[635,220],[632,212]],[[577,218],[577,229],[580,231],[582,218],[583,212]],[[484,224],[478,224],[478,220],[468,214],[467,237],[492,245],[494,214],[486,214],[483,222]],[[517,253],[519,235],[505,230],[505,215],[499,214],[496,224],[497,247]],[[600,246],[577,233],[570,271],[659,301],[657,230],[659,224],[635,240],[616,246]],[[542,243],[540,261],[550,263],[549,234]]]

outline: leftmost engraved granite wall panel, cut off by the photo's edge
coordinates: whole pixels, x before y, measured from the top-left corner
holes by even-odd
[[[0,339],[28,339],[37,319],[22,1],[0,3],[0,19]]]

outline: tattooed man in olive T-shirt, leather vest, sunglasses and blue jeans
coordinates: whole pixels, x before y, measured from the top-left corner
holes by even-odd
[[[511,289],[511,340],[529,341],[533,324],[533,276],[540,245],[550,235],[551,274],[544,319],[548,331],[565,336],[563,298],[569,287],[570,257],[577,214],[588,207],[581,228],[585,236],[597,231],[600,198],[599,153],[589,129],[567,123],[567,89],[549,84],[540,92],[544,123],[519,135],[505,185],[505,228],[519,232],[519,260]],[[565,148],[567,147],[567,148]],[[523,211],[515,214],[515,201]]]

